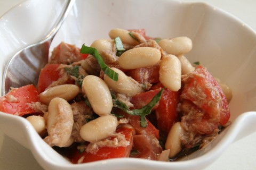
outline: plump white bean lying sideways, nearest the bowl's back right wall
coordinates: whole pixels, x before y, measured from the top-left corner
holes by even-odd
[[[188,37],[162,39],[158,42],[158,45],[168,54],[175,56],[188,53],[193,46],[191,39]]]

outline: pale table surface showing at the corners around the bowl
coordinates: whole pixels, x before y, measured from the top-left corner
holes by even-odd
[[[24,0],[0,0],[0,16]],[[256,31],[256,0],[183,0],[205,2],[235,15]],[[0,131],[0,170],[42,169],[31,152]],[[256,169],[256,133],[230,145],[209,169]]]

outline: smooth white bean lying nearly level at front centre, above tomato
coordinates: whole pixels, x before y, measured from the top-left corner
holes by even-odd
[[[94,142],[109,137],[116,131],[116,126],[117,118],[106,115],[84,124],[79,133],[85,141]]]

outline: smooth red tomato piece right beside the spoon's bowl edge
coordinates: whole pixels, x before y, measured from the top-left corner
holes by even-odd
[[[60,78],[60,64],[46,64],[41,70],[38,79],[38,91],[43,92],[50,84]]]

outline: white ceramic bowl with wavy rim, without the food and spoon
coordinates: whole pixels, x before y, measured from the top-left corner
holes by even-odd
[[[2,80],[5,65],[19,49],[35,43],[49,31],[62,1],[27,1],[0,19]],[[19,16],[19,17],[17,17]],[[256,131],[256,33],[219,8],[203,3],[168,0],[85,0],[74,4],[67,20],[54,38],[90,45],[108,38],[112,28],[145,28],[152,37],[188,36],[193,50],[186,56],[202,65],[233,89],[230,103],[233,122],[203,150],[179,162],[156,162],[134,158],[109,159],[74,165],[49,147],[33,127],[19,116],[0,113],[0,129],[30,149],[45,169],[202,169],[213,163],[228,145]],[[1,89],[2,83],[0,83]]]

